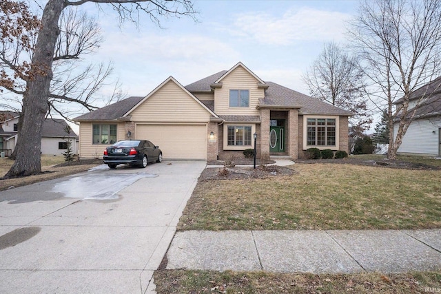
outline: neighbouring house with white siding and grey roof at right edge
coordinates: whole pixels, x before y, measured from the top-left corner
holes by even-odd
[[[402,102],[402,99],[396,102],[398,108]],[[441,156],[441,76],[412,92],[408,109],[409,116],[414,111],[415,114],[397,153]],[[393,124],[393,138],[398,123]]]

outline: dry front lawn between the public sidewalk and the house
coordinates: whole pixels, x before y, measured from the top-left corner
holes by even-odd
[[[200,181],[179,230],[441,227],[441,171],[294,165],[298,174]]]

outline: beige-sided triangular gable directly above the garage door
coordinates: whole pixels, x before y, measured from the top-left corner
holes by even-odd
[[[168,78],[132,111],[134,122],[208,122],[213,114],[174,78]]]

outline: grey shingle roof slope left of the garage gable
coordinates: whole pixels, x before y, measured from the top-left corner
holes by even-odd
[[[132,107],[143,100],[144,97],[132,96],[118,101],[103,108],[96,109],[93,112],[88,112],[82,116],[74,118],[76,121],[81,120],[116,120],[126,114]]]

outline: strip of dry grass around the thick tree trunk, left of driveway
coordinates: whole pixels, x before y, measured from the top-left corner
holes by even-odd
[[[8,172],[13,162],[14,160],[10,160],[8,158],[0,158],[1,176],[4,176]],[[41,170],[43,171],[43,174],[0,180],[0,191],[9,189],[10,187],[20,187],[33,184],[34,182],[41,182],[43,180],[52,180],[54,178],[78,174],[101,163],[95,162],[91,165],[69,165],[64,167],[56,167],[56,165],[64,162],[65,160],[63,156],[41,156]]]

